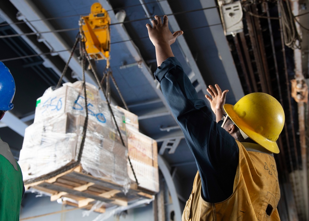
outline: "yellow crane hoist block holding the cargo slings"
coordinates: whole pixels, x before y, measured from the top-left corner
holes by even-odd
[[[110,18],[107,11],[98,2],[91,6],[89,16],[81,17],[83,41],[88,55],[95,60],[106,59],[109,68]]]

